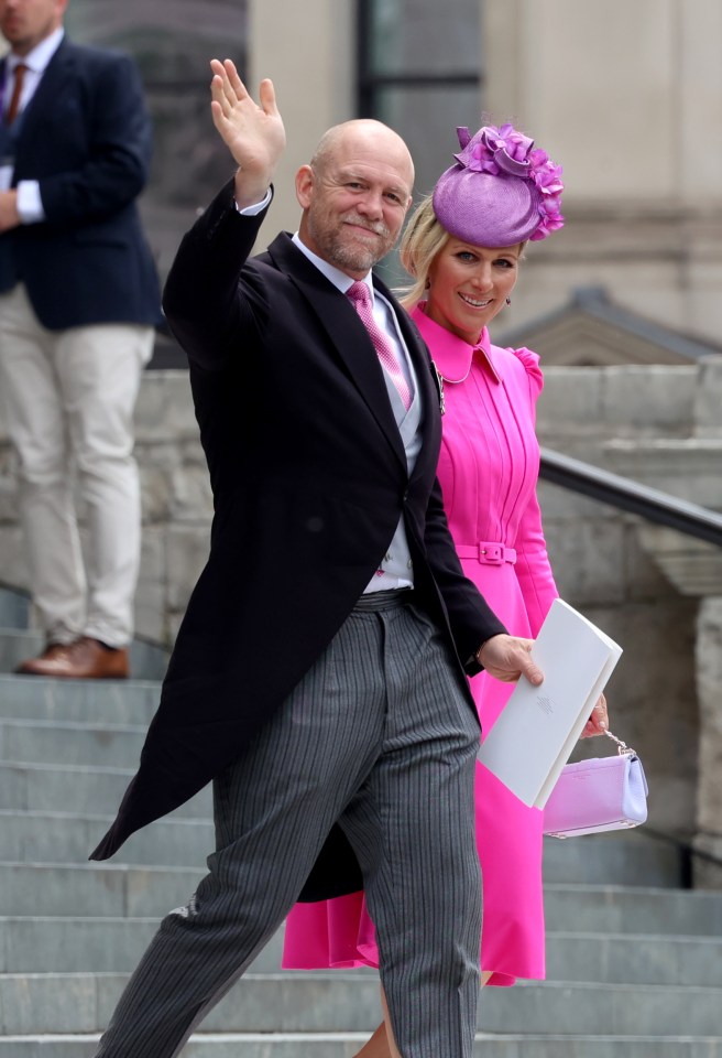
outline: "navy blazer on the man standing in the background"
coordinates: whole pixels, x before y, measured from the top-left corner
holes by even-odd
[[[14,156],[13,183],[36,180],[45,210],[44,222],[0,235],[0,292],[22,281],[48,330],[161,322],[135,204],[151,145],[132,60],[65,37],[29,106],[12,129],[0,129],[0,156]]]

